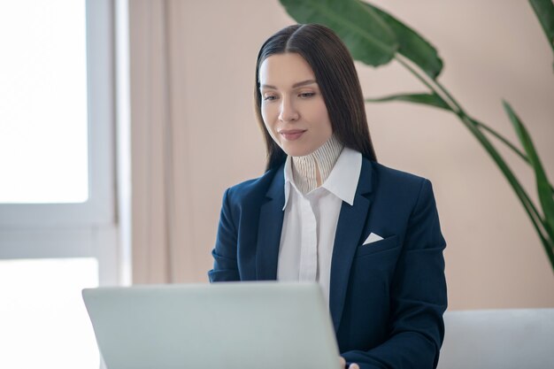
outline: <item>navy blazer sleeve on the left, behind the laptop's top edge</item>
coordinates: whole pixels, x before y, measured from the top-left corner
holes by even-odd
[[[212,250],[213,269],[208,272],[211,282],[240,281],[236,260],[237,230],[233,219],[232,207],[229,204],[229,188],[223,195],[221,214],[219,216],[218,235]]]

